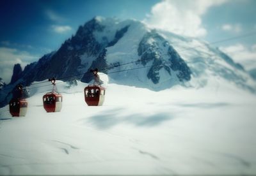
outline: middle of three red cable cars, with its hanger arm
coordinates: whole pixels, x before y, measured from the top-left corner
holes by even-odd
[[[60,112],[62,108],[62,96],[58,93],[55,84],[55,78],[49,79],[52,82],[53,89],[43,96],[44,109],[46,112]]]

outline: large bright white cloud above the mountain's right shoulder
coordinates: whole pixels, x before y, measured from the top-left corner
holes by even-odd
[[[186,36],[205,36],[202,15],[211,8],[228,0],[163,0],[152,7],[143,20],[148,26],[164,29]]]

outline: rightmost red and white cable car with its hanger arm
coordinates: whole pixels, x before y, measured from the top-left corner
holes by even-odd
[[[105,100],[106,89],[101,85],[97,85],[103,83],[99,78],[98,69],[91,70],[91,72],[94,75],[94,83],[84,88],[84,100],[88,106],[102,106]]]

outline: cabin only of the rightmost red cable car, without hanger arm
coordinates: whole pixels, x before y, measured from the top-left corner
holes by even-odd
[[[84,100],[88,106],[102,106],[106,89],[98,85],[88,85],[84,88]]]

